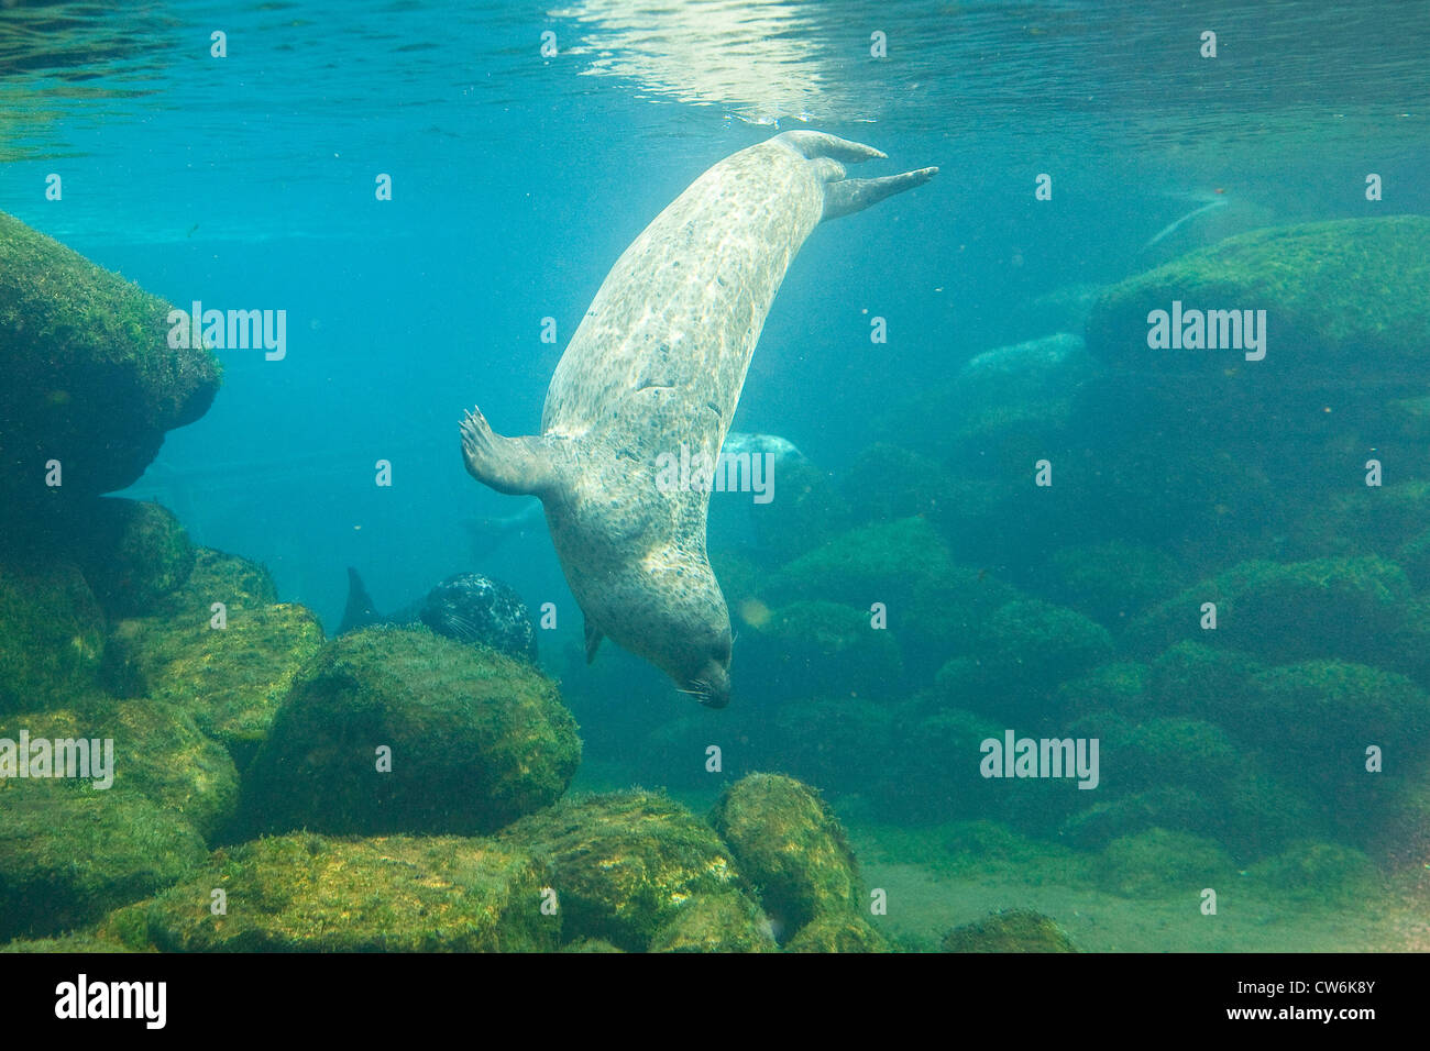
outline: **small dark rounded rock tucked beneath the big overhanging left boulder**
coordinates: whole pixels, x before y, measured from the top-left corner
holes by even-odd
[[[74,559],[110,618],[157,612],[193,572],[187,531],[157,503],[99,499],[76,509],[69,531]]]

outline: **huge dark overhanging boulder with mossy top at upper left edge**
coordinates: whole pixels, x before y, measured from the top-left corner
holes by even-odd
[[[132,485],[207,412],[219,362],[170,349],[172,309],[0,213],[0,519]]]

